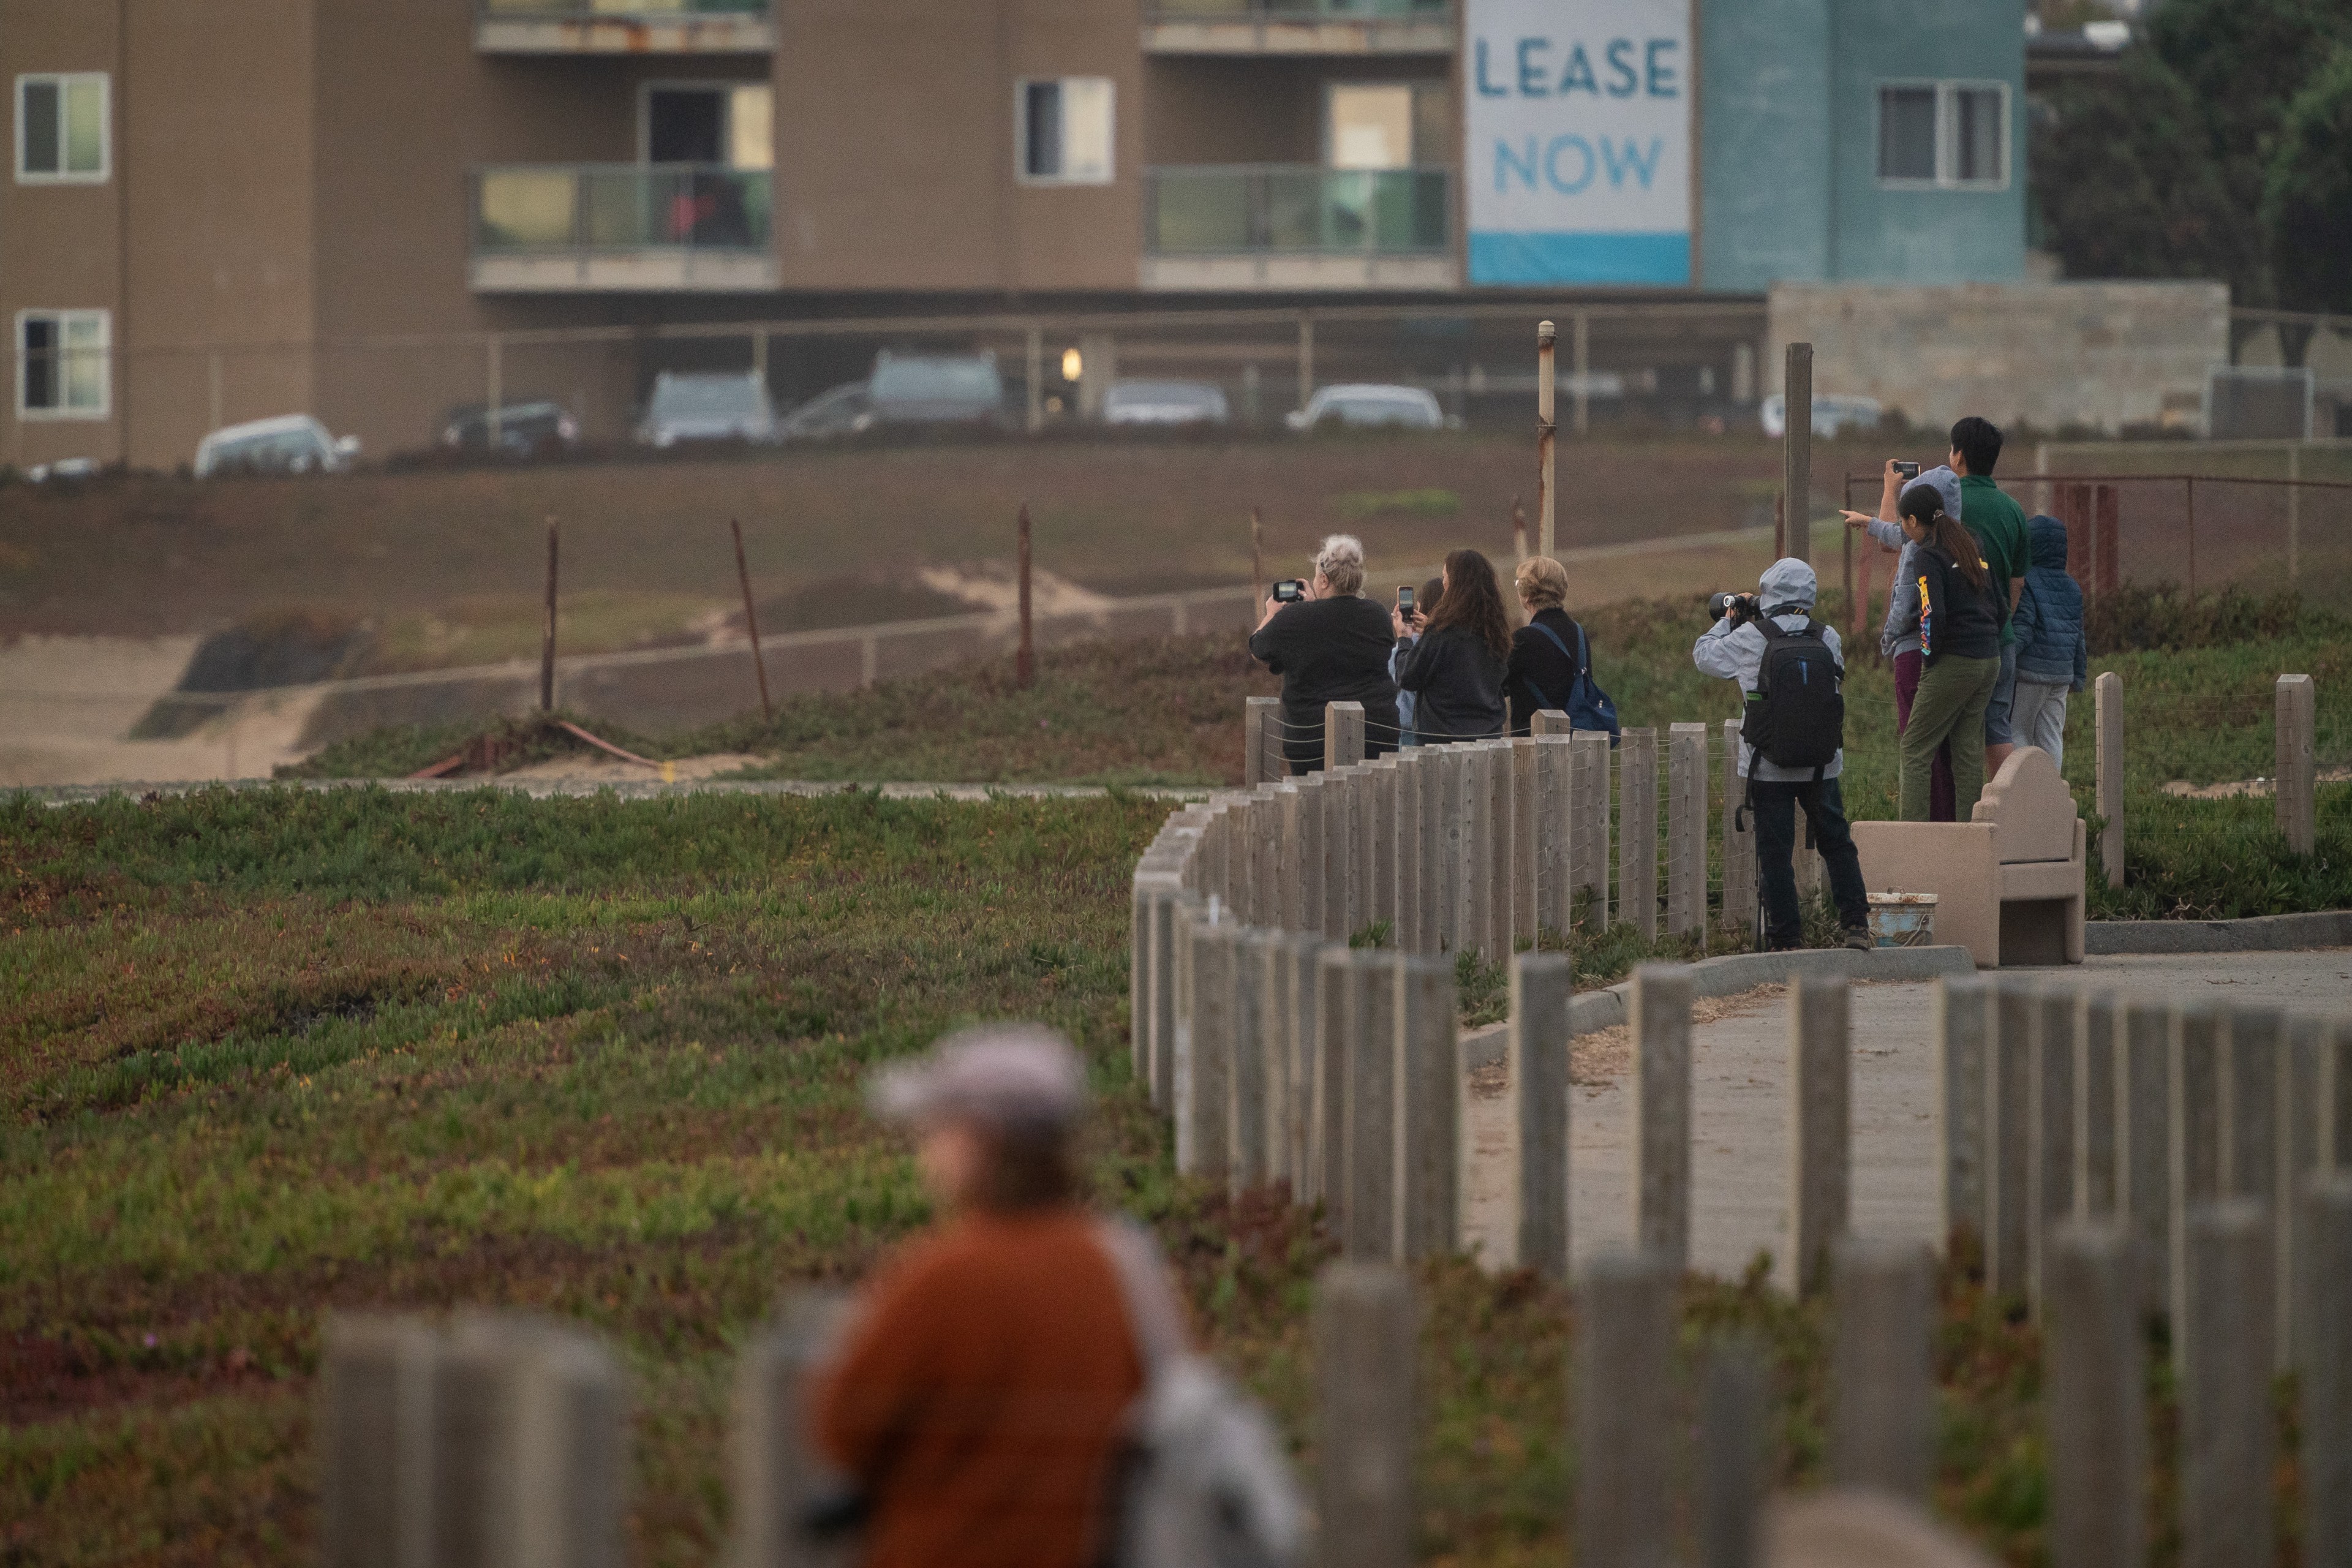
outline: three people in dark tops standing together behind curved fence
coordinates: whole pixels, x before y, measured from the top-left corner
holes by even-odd
[[[1364,597],[1364,541],[1324,538],[1301,597],[1268,595],[1249,635],[1249,651],[1282,677],[1282,755],[1291,771],[1322,766],[1327,703],[1364,705],[1369,757],[1524,736],[1538,710],[1564,710],[1592,663],[1566,611],[1569,571],[1536,555],[1519,562],[1512,585],[1519,628],[1503,609],[1494,562],[1454,550],[1418,595],[1406,585],[1383,609]]]

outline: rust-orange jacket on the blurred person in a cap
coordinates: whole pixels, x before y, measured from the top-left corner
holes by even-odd
[[[910,1244],[816,1385],[816,1436],[873,1505],[866,1568],[1087,1568],[1143,1361],[1077,1208]]]

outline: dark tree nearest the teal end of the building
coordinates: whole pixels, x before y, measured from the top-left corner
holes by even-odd
[[[2230,200],[2197,94],[2150,49],[2122,80],[2051,94],[2032,183],[2067,277],[2213,277],[2241,294],[2260,273],[2253,214]]]

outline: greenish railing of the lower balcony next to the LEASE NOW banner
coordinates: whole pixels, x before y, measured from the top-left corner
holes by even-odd
[[[1143,172],[1152,256],[1444,254],[1454,172],[1204,165]]]

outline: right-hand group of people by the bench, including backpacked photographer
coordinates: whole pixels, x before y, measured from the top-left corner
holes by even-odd
[[[1896,675],[1898,816],[1907,823],[1950,823],[1973,811],[1985,780],[2018,745],[2063,762],[2067,693],[2082,691],[2089,675],[2084,602],[2067,576],[2065,524],[2056,517],[2027,522],[1992,482],[1999,458],[1999,428],[1962,418],[1940,468],[1917,473],[1889,461],[1877,515],[1844,512],[1851,529],[1898,550],[1879,651]],[[1691,658],[1708,675],[1738,679],[1748,703],[1740,778],[1743,806],[1755,816],[1764,945],[1804,940],[1792,858],[1802,809],[1830,872],[1844,940],[1867,947],[1870,896],[1837,783],[1844,736],[1837,733],[1835,745],[1828,736],[1828,726],[1842,726],[1844,705],[1811,710],[1820,715],[1811,724],[1823,731],[1818,736],[1802,733],[1806,724],[1797,724],[1797,733],[1788,724],[1757,724],[1771,708],[1802,710],[1802,698],[1773,691],[1776,644],[1790,644],[1783,654],[1795,661],[1790,668],[1802,663],[1806,646],[1818,646],[1832,689],[1844,677],[1837,632],[1813,621],[1816,592],[1809,564],[1773,562],[1757,592],[1736,599],[1698,637]]]

